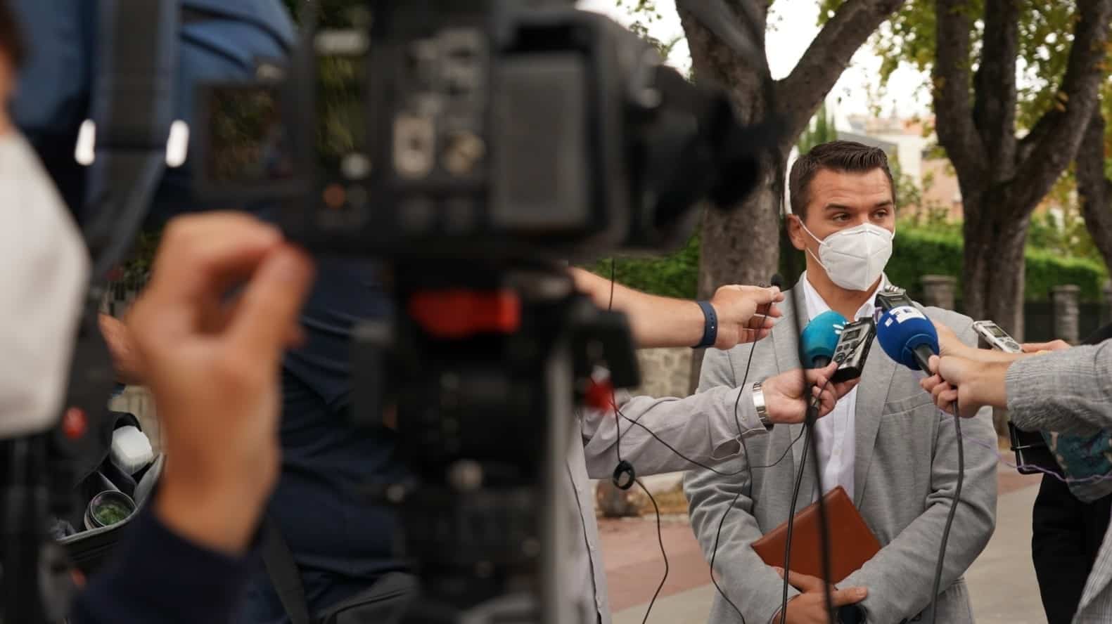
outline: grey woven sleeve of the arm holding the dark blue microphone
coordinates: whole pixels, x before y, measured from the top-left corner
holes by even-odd
[[[1024,358],[1005,380],[1015,426],[1092,434],[1112,427],[1112,340]]]

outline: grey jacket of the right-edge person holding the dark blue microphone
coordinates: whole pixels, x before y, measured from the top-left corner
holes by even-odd
[[[1015,426],[1092,434],[1112,429],[1112,341],[1027,358],[1007,369]],[[1089,573],[1076,624],[1112,621],[1112,527]]]

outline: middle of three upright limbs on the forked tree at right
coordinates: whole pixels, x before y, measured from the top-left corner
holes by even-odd
[[[973,123],[989,158],[994,182],[1011,179],[1015,167],[1015,59],[1020,10],[1014,0],[986,0],[981,63],[973,77]]]

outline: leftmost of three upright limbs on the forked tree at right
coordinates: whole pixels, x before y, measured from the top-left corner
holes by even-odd
[[[970,31],[966,3],[937,0],[933,71],[935,132],[959,177],[983,178],[984,144],[973,124],[970,107]]]

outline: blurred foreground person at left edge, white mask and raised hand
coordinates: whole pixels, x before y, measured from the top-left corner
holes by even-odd
[[[49,425],[69,373],[89,259],[71,214],[7,102],[23,56],[0,2],[0,420]],[[312,269],[239,214],[172,223],[130,319],[163,420],[168,465],[73,624],[227,622],[278,472],[278,366],[299,335]],[[229,288],[246,282],[234,306]],[[28,596],[30,597],[30,596]]]

